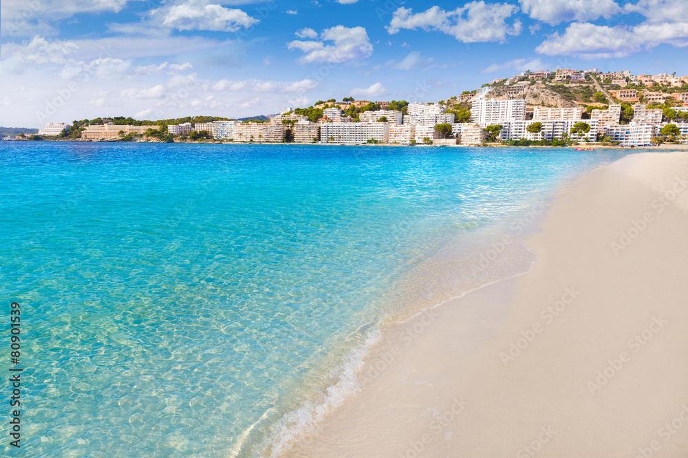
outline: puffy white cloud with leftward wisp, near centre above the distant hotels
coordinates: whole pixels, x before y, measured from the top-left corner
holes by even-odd
[[[373,54],[373,45],[363,27],[344,27],[336,25],[323,30],[321,41],[292,41],[289,49],[299,49],[305,53],[305,62],[347,62],[365,59]],[[325,45],[332,41],[332,45]]]

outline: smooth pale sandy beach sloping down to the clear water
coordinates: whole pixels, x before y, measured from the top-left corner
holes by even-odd
[[[533,269],[385,330],[291,457],[688,456],[688,154],[560,190]]]

